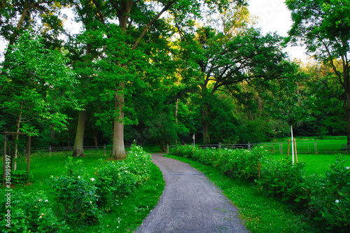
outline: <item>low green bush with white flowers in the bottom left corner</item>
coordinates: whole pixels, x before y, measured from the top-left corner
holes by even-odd
[[[43,192],[25,193],[23,190],[1,190],[1,232],[66,232],[69,227],[52,211],[52,203]],[[9,204],[8,198],[10,199]],[[10,208],[8,208],[10,206]],[[8,212],[10,210],[10,212]],[[10,213],[9,220],[5,213]]]

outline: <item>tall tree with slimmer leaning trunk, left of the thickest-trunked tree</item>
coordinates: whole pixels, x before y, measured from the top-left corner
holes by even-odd
[[[72,7],[76,12],[76,20],[83,25],[83,31],[71,37],[69,50],[73,59],[74,70],[77,73],[77,78],[80,80],[80,86],[76,89],[75,94],[77,97],[80,97],[80,101],[82,101],[84,106],[78,114],[72,155],[83,156],[87,108],[90,104],[97,101],[98,96],[98,88],[94,85],[96,70],[94,69],[94,62],[92,61],[98,57],[99,52],[97,52],[97,50],[101,48],[94,37],[98,33],[99,24],[102,24],[104,19],[99,17],[99,11],[92,1],[74,1]],[[97,43],[94,44],[94,42]],[[92,114],[93,112],[90,115]]]

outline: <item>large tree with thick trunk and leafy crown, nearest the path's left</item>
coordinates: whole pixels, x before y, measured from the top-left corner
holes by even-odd
[[[125,94],[131,87],[130,81],[137,79],[134,69],[141,62],[143,52],[140,45],[146,41],[148,34],[159,33],[164,26],[165,13],[184,19],[188,15],[199,15],[201,3],[194,0],[173,1],[93,1],[98,9],[98,15],[106,25],[106,41],[103,68],[114,88],[114,127],[112,156],[125,157],[124,123]],[[225,4],[227,1],[204,1],[211,4]],[[114,24],[111,22],[115,22]],[[113,41],[113,43],[111,43]],[[144,57],[146,58],[146,57]],[[144,60],[144,62],[148,62]],[[142,64],[142,63],[140,63]],[[149,62],[148,62],[149,64]],[[109,73],[109,74],[108,74]],[[111,92],[109,92],[111,93]]]

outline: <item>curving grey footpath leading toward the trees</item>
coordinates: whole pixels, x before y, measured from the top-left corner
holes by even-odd
[[[202,172],[178,160],[152,155],[165,190],[136,233],[248,232],[238,209]]]

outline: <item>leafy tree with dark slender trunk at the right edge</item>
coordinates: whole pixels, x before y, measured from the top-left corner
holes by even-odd
[[[291,10],[293,26],[290,41],[300,41],[307,51],[322,62],[329,63],[345,94],[347,141],[350,143],[350,1],[301,0],[286,1]],[[337,68],[335,59],[342,61]]]

